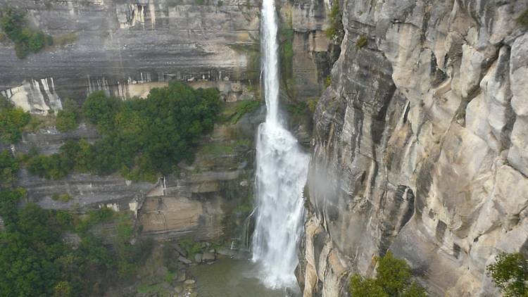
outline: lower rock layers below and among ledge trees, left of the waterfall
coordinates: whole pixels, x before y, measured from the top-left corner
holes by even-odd
[[[222,103],[222,113],[233,113],[238,104]],[[174,174],[156,184],[132,182],[118,173],[99,177],[75,172],[64,179],[50,180],[21,170],[17,187],[27,189],[25,202],[42,208],[76,213],[102,207],[130,210],[136,214],[141,234],[159,241],[224,236],[240,244],[244,220],[252,210],[254,132],[264,111],[262,107],[246,114],[235,124],[227,121],[215,125],[199,145],[194,163],[181,163]],[[27,153],[37,147],[49,155],[57,153],[67,139],[92,142],[98,138],[94,127],[84,124],[68,133],[41,129],[23,134],[23,141],[13,150]],[[54,196],[63,194],[70,199],[54,200]]]

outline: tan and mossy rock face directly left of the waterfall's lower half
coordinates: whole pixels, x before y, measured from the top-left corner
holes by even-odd
[[[253,133],[263,111],[236,125],[217,125],[194,163],[180,164],[151,191],[138,212],[144,235],[158,240],[222,237],[244,245],[244,222],[252,210]]]

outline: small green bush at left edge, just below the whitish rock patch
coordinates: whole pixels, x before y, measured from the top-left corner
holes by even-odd
[[[0,96],[0,141],[14,144],[22,139],[22,131],[31,116],[22,108],[15,107],[4,96]]]

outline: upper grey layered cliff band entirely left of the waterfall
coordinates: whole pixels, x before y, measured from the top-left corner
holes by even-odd
[[[146,82],[258,77],[252,51],[237,50],[258,44],[257,2],[0,1],[5,6],[27,10],[32,25],[58,40],[69,37],[24,60],[8,39],[0,42],[0,90],[18,100],[34,101],[34,92],[82,100],[98,89],[131,97]]]

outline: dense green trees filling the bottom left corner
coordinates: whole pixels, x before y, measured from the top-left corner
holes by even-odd
[[[148,255],[148,243],[130,244],[127,215],[103,209],[75,217],[32,203],[18,208],[24,196],[23,189],[0,191],[6,228],[0,232],[0,296],[102,296],[106,286],[130,277]],[[89,232],[101,222],[116,226],[112,248]],[[77,248],[65,243],[65,232],[80,235]]]

